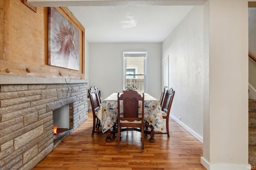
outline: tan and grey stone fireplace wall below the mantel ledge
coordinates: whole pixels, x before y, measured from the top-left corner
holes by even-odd
[[[45,158],[54,148],[52,110],[66,104],[76,129],[87,119],[87,83],[0,85],[0,169],[30,170]]]

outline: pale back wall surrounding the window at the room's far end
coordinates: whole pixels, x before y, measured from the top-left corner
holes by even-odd
[[[148,94],[161,95],[162,43],[90,43],[90,86],[97,86],[104,100],[122,92],[123,51],[148,51]]]

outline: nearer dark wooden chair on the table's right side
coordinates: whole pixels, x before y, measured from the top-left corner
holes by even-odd
[[[167,134],[167,137],[170,137],[169,134],[169,115],[172,107],[172,100],[174,98],[175,91],[170,88],[167,90],[165,96],[164,96],[164,102],[162,105],[162,116],[163,119],[166,119],[166,133],[165,132],[155,132],[155,134]]]

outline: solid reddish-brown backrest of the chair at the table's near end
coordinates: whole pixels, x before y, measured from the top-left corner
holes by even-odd
[[[121,94],[120,97],[118,93],[118,117],[120,116],[120,100],[123,100],[124,109],[124,117],[120,119],[128,121],[144,120],[144,93],[143,96],[141,96],[137,91],[128,90]],[[139,101],[142,103],[142,118],[139,118]],[[127,117],[131,119],[126,119]]]

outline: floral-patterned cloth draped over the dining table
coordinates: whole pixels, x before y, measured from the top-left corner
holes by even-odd
[[[100,119],[103,133],[110,129],[117,120],[117,94],[113,93],[106,98],[102,102],[98,112],[96,112],[97,117]],[[122,110],[122,104],[120,106]],[[144,93],[144,119],[158,131],[164,131],[160,102],[147,93]]]

